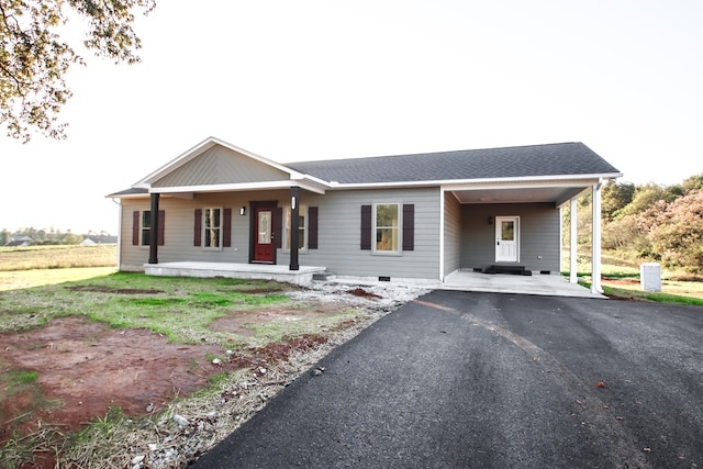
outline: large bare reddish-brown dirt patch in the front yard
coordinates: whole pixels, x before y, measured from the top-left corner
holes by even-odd
[[[2,334],[0,340],[1,371],[38,373],[38,389],[25,386],[0,401],[0,443],[40,425],[77,429],[114,406],[129,415],[158,411],[204,386],[217,372],[208,354],[224,354],[215,345],[169,344],[149,331],[111,330],[82,317]]]

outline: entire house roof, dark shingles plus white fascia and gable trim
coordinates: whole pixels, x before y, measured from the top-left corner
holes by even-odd
[[[239,168],[236,165],[233,166],[225,156],[224,160],[230,161],[230,169],[234,172],[230,172],[230,177],[223,171],[216,174],[220,179],[224,176],[226,180],[203,183],[174,183],[169,180],[172,175],[180,175],[175,178],[176,180],[186,180],[185,176],[190,175],[192,170],[188,165],[192,165],[191,161],[196,161],[199,156],[207,158],[212,149],[217,147],[232,150],[244,158],[250,158],[259,167],[263,165],[278,171],[276,174],[279,176],[276,176],[276,180],[232,180],[239,175]],[[614,179],[621,176],[616,168],[580,142],[299,161],[283,165],[210,137],[136,182],[131,189],[108,197],[143,198],[149,192],[172,194],[190,192],[192,194],[201,191],[268,190],[293,186],[319,193],[345,188],[451,186],[459,199],[468,202],[470,200],[468,193],[462,198],[457,191],[466,190],[471,186],[473,191],[471,198],[486,199],[484,194],[477,191],[478,186],[490,190],[486,185],[494,183],[498,186],[493,189],[510,187],[513,190],[528,185],[556,185],[555,187],[568,185],[572,189],[560,190],[559,197],[554,194],[539,197],[567,200],[572,192],[583,190],[593,180]],[[513,196],[511,198],[514,199]],[[494,194],[492,200],[496,201]]]

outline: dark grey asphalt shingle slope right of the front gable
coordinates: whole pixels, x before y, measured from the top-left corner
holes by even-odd
[[[339,183],[618,174],[580,142],[286,164]]]

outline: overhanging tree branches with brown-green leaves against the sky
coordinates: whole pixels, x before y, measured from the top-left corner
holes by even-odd
[[[58,123],[71,97],[64,77],[85,65],[58,30],[69,15],[88,22],[83,45],[99,57],[135,64],[141,42],[132,29],[135,10],[148,13],[156,0],[0,0],[0,124],[8,136],[29,142],[35,130],[65,138]]]

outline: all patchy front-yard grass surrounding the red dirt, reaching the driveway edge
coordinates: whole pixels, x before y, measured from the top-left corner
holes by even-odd
[[[272,314],[267,320],[268,325],[249,325],[254,331],[253,336],[222,333],[210,327],[214,320],[237,312],[274,309],[276,312],[291,310],[294,314],[297,309],[309,309],[310,304],[294,304],[286,294],[294,288],[297,287],[266,280],[168,278],[113,272],[57,284],[0,291],[0,332],[35,328],[62,316],[85,316],[110,327],[152,330],[171,342],[219,343],[227,349],[246,354],[248,347],[263,347],[303,334],[320,334],[321,330],[334,330],[335,325],[348,320],[356,322],[356,319],[370,317],[355,309],[316,314],[299,321],[288,321],[283,315],[279,317]],[[209,361],[215,358],[226,361],[226,357],[215,355],[208,355],[205,358]],[[190,366],[197,368],[198,362],[193,359]],[[40,390],[37,380],[41,370],[0,368],[4,370],[0,373],[0,399],[12,399],[10,393],[16,392],[34,393],[34,388]],[[288,375],[269,377],[275,371],[267,368],[266,377],[275,380],[271,386],[275,384],[276,389],[280,388],[280,382],[291,379]],[[228,389],[238,389],[242,381],[242,376],[236,371],[213,375],[209,377],[208,388],[193,397],[177,397],[167,410],[153,417],[127,417],[118,407],[110,409],[105,416],[96,417],[78,433],[65,434],[60,428],[44,426],[32,435],[16,435],[4,447],[0,447],[0,468],[20,467],[36,454],[34,451],[46,449],[56,456],[70,455],[67,457],[77,461],[80,467],[94,467],[96,461],[107,460],[107,455],[112,455],[115,447],[122,448],[120,457],[123,457],[131,447],[145,444],[143,438],[130,435],[138,436],[138,432],[148,433],[157,426],[167,425],[171,421],[168,412],[172,413],[174,406],[188,406],[193,399],[220,402],[225,383]],[[30,403],[32,407],[56,405],[43,394],[35,394]],[[250,407],[258,409],[261,399],[253,394]],[[27,407],[26,414],[20,418],[31,414],[32,409]],[[125,446],[127,440],[133,440],[133,445]]]

